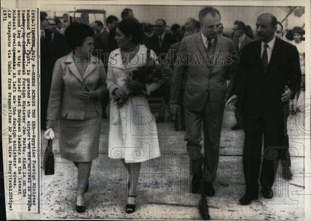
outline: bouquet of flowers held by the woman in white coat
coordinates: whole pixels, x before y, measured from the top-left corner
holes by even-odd
[[[145,64],[144,66],[138,67],[137,70],[132,71],[131,77],[129,77],[126,81],[135,81],[138,80],[142,84],[151,84],[151,83],[160,83],[160,84],[170,84],[172,80],[172,69],[167,65],[151,65]],[[140,89],[135,90],[124,90],[127,91],[128,97],[137,96],[141,93]],[[119,98],[117,97],[114,100],[114,104],[117,105],[118,108],[121,108],[123,104],[128,101],[127,98]]]

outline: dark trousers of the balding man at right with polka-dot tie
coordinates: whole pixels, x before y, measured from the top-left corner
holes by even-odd
[[[262,117],[244,119],[244,150],[243,170],[246,182],[246,192],[258,194],[258,177],[261,164],[262,134],[264,135],[264,155],[260,173],[262,187],[271,188],[280,159],[284,159],[284,121],[266,121]]]

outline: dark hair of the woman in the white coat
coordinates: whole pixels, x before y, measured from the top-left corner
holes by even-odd
[[[117,27],[124,35],[132,35],[131,42],[134,44],[140,43],[144,38],[144,30],[136,18],[123,19]]]

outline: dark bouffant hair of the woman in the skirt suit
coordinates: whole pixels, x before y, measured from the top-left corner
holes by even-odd
[[[71,24],[65,30],[65,37],[69,47],[74,50],[77,46],[82,46],[86,37],[93,37],[94,30],[86,24]]]

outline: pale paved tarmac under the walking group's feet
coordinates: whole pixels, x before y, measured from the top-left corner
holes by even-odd
[[[119,160],[108,158],[109,109],[108,119],[102,120],[100,155],[93,161],[90,187],[86,197],[86,211],[79,214],[75,210],[77,191],[77,169],[71,161],[62,159],[59,154],[58,134],[53,140],[55,174],[44,176],[42,171],[41,219],[157,219],[157,220],[202,220],[199,203],[204,194],[192,194],[188,184],[188,155],[183,140],[185,131],[175,131],[174,123],[169,125],[169,136],[159,136],[161,157],[142,163],[137,185],[137,206],[132,214],[125,213],[126,198],[123,187],[126,179]],[[288,117],[291,171],[294,177],[286,181],[276,174],[274,199],[267,200],[259,193],[258,200],[250,205],[240,205],[239,199],[245,192],[242,168],[244,131],[232,131],[235,125],[234,113],[225,109],[221,131],[219,167],[214,188],[215,196],[206,197],[205,211],[211,220],[304,220],[304,140],[299,134],[303,125],[298,122],[302,113]],[[163,123],[157,124],[158,129]],[[44,131],[41,131],[42,135]],[[42,139],[42,146],[46,140]],[[173,151],[175,147],[177,152]],[[201,187],[203,183],[201,183]],[[261,187],[260,187],[261,189]],[[259,190],[260,190],[259,189]]]

